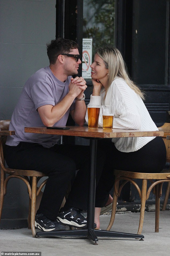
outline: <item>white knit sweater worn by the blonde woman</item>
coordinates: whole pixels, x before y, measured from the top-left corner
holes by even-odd
[[[124,79],[116,77],[108,89],[106,99],[104,99],[104,95],[105,92],[101,92],[100,96],[91,95],[89,104],[115,106],[113,128],[158,131],[143,100],[127,85]],[[88,123],[87,112],[86,122]],[[102,110],[100,110],[99,127],[103,127]],[[154,138],[113,138],[112,142],[121,152],[134,152]]]

